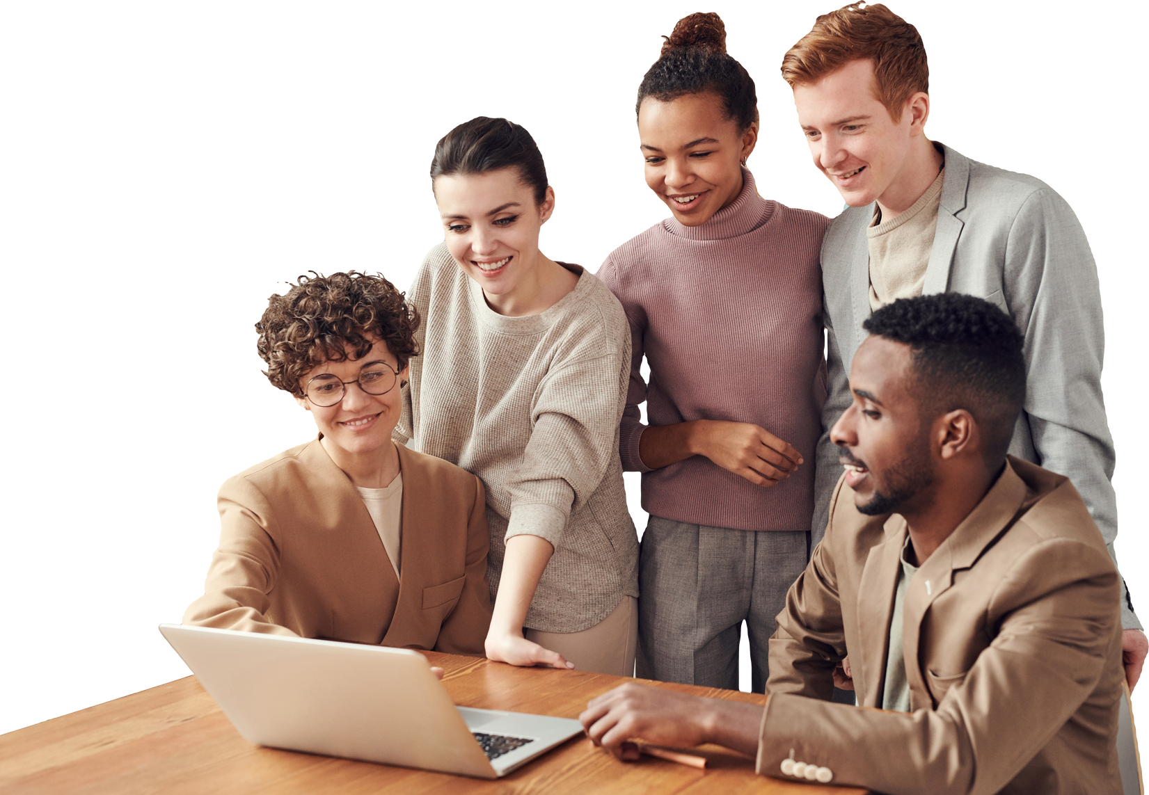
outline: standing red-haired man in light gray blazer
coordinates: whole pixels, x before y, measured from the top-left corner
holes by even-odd
[[[830,395],[815,539],[841,474],[830,429],[850,403],[847,373],[866,337],[862,323],[900,298],[949,292],[997,304],[1025,334],[1028,396],[1010,453],[1067,476],[1112,553],[1116,458],[1101,292],[1077,216],[1042,180],[930,140],[925,43],[881,3],[820,15],[782,56],[781,77],[810,163],[848,206],[822,246]],[[1131,688],[1149,653],[1142,624],[1123,607]]]

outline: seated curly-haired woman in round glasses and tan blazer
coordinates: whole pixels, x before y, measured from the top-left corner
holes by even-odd
[[[219,486],[219,542],[184,624],[483,654],[483,484],[391,438],[418,326],[379,272],[308,271],[268,298],[263,372],[318,433]]]

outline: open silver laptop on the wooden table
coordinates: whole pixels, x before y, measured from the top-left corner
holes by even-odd
[[[409,649],[156,628],[260,746],[493,779],[583,731],[570,718],[455,707],[426,657]]]

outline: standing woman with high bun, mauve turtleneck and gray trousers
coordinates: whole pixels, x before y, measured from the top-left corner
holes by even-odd
[[[735,688],[746,622],[761,693],[811,548],[830,221],[755,191],[757,93],[722,17],[688,14],[663,38],[634,116],[643,182],[671,215],[597,271],[632,338],[619,449],[649,514],[638,673]]]

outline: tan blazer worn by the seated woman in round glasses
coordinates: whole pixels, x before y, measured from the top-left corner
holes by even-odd
[[[483,484],[395,447],[402,581],[317,435],[219,486],[219,542],[183,623],[481,655],[491,624]]]

